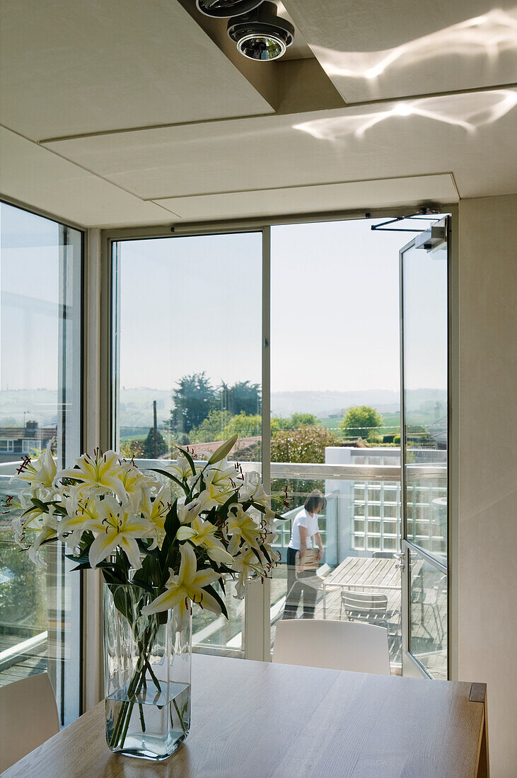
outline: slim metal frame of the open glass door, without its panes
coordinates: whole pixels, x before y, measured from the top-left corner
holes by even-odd
[[[456,531],[452,527],[452,506],[455,505],[454,499],[456,499],[456,489],[454,489],[454,474],[456,468],[453,468],[453,457],[456,454],[456,435],[454,433],[453,424],[456,423],[453,419],[456,418],[456,414],[452,415],[452,409],[456,408],[456,395],[452,391],[452,380],[457,385],[457,377],[452,363],[452,358],[456,354],[456,340],[452,343],[452,333],[454,332],[454,326],[456,323],[453,310],[453,294],[456,293],[456,262],[453,261],[455,256],[453,248],[456,246],[452,241],[452,209],[446,209],[451,213],[450,216],[445,217],[445,244],[447,247],[447,430],[448,430],[448,443],[447,443],[447,558],[444,562],[440,562],[433,555],[426,552],[420,546],[414,544],[407,539],[407,499],[406,499],[406,426],[405,426],[405,397],[404,397],[404,316],[403,316],[403,255],[414,248],[418,235],[410,240],[405,246],[400,248],[399,251],[399,284],[400,284],[400,510],[401,510],[401,578],[402,578],[402,674],[414,678],[432,678],[424,665],[418,661],[417,657],[410,651],[410,554],[414,554],[421,557],[423,562],[428,562],[438,573],[442,573],[447,576],[447,678],[450,680],[454,675],[455,662],[453,659],[453,650],[451,647],[451,637],[454,640],[456,637],[456,629],[452,623],[453,616],[456,616],[456,612],[452,611],[454,607],[455,598],[453,598],[452,582],[454,580],[452,576],[452,559],[454,557],[454,551],[456,548]],[[444,209],[445,212],[445,209]],[[424,232],[424,231],[423,231]],[[457,512],[454,514],[457,516]],[[456,566],[455,566],[456,567]],[[456,622],[455,622],[456,623]],[[457,641],[454,640],[454,650],[457,650]]]

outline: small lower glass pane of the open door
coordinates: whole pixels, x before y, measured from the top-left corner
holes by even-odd
[[[410,552],[410,652],[433,678],[447,678],[447,576]]]

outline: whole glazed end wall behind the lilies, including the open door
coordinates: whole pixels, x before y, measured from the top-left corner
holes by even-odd
[[[272,580],[245,608],[230,583],[228,623],[197,612],[200,650],[267,659],[281,619],[362,621],[387,629],[392,672],[446,675],[443,225],[401,252],[400,307],[403,237],[378,223],[111,244],[114,445],[151,467],[237,433],[282,514]],[[295,569],[315,506],[320,559]]]

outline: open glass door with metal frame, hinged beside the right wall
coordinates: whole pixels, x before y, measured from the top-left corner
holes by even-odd
[[[448,218],[400,251],[403,674],[448,677]]]

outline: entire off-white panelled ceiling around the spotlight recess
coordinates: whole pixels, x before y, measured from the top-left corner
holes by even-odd
[[[517,191],[517,91],[497,88],[517,81],[508,3],[285,6],[354,104],[335,107],[314,59],[241,72],[177,0],[2,0],[3,195],[130,226]],[[309,110],[315,91],[327,109]]]

